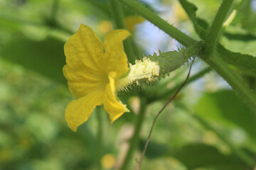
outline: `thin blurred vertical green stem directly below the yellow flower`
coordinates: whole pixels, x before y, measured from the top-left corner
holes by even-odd
[[[101,159],[102,159],[102,149],[103,149],[103,145],[102,145],[102,130],[103,130],[103,126],[102,126],[102,107],[97,107],[97,123],[98,123],[98,129],[97,129],[97,166],[98,169],[102,169],[101,166]]]

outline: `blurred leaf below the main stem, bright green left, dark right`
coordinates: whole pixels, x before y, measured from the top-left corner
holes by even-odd
[[[234,91],[204,94],[195,109],[208,123],[218,123],[225,128],[242,128],[247,135],[256,137],[256,116]]]

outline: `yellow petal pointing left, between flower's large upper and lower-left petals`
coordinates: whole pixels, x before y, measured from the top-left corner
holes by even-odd
[[[105,73],[90,72],[84,67],[73,69],[65,65],[63,73],[65,78],[68,79],[68,87],[75,98],[85,96],[90,91],[95,91],[95,89],[104,91],[108,81]]]

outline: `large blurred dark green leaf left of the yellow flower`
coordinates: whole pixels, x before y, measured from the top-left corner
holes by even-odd
[[[54,38],[35,41],[17,36],[2,45],[0,56],[64,84],[66,80],[62,71],[65,65],[63,45],[64,42]]]

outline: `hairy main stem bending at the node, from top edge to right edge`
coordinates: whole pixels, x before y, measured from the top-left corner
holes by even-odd
[[[228,11],[233,3],[233,0],[225,0],[221,4],[218,13],[215,16],[212,26],[210,27],[210,31],[208,33],[208,38],[206,39],[206,51],[200,57],[205,60],[208,64],[210,64],[213,69],[215,69],[218,74],[220,74],[223,79],[225,79],[230,86],[238,93],[240,97],[247,103],[252,111],[256,113],[256,96],[244,81],[238,77],[237,74],[233,73],[233,71],[228,67],[228,65],[218,57],[218,53],[215,50],[216,40],[218,37],[218,33],[220,32],[220,28],[223,26],[223,22],[228,14]]]

